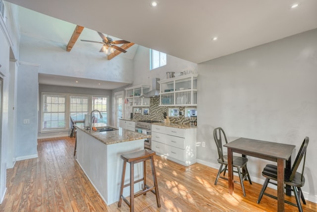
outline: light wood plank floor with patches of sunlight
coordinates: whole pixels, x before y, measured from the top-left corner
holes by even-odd
[[[74,139],[61,137],[38,140],[38,158],[17,161],[7,170],[7,191],[0,212],[126,212],[114,203],[106,206],[73,156]],[[149,163],[147,164],[149,165]],[[161,207],[151,192],[135,199],[137,212],[275,212],[276,200],[264,196],[257,204],[262,185],[245,182],[246,197],[239,184],[228,194],[228,183],[219,179],[217,170],[196,163],[185,167],[155,157]],[[147,169],[150,181],[150,167]],[[103,176],[101,176],[103,177]],[[150,184],[150,183],[149,183]],[[275,190],[269,189],[271,193]],[[290,199],[286,197],[286,199]],[[295,202],[295,198],[291,200]],[[316,212],[317,204],[307,201],[305,212]],[[285,211],[298,211],[285,204]]]

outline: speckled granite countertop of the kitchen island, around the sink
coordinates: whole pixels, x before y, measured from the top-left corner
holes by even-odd
[[[111,127],[111,126],[107,126],[106,124],[95,124],[94,126],[95,127]],[[117,129],[117,128],[114,128],[114,129]],[[77,130],[81,130],[84,133],[87,133],[93,138],[105,143],[106,145],[151,138],[150,135],[141,134],[141,133],[137,133],[130,130],[125,130],[122,128],[119,128],[118,130],[114,130],[114,131],[93,132],[92,134],[90,133],[90,130],[85,130],[83,127],[77,127]]]

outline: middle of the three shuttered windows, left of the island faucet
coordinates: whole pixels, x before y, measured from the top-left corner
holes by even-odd
[[[85,114],[88,114],[87,96],[70,96],[70,116],[76,121],[84,121]]]

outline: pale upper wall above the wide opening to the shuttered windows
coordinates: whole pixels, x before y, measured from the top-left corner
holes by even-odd
[[[132,82],[133,61],[121,57],[107,61],[105,54],[89,52],[76,45],[21,36],[20,61],[40,64],[39,73],[117,82]]]

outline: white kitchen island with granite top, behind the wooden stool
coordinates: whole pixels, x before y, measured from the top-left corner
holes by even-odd
[[[123,166],[120,156],[144,149],[144,139],[149,137],[151,136],[122,128],[92,133],[77,128],[76,159],[107,205],[119,200]],[[135,165],[135,179],[142,178],[142,170],[143,163]],[[127,166],[125,184],[130,181],[129,173],[130,167]],[[135,184],[136,192],[142,189],[141,183]],[[123,195],[129,196],[128,189],[124,190]]]

